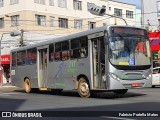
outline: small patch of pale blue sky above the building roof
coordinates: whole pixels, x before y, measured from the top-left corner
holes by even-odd
[[[114,1],[134,4],[136,5],[137,9],[141,9],[141,0],[114,0]]]

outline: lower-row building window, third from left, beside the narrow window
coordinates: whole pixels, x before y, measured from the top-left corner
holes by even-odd
[[[35,15],[36,25],[45,26],[46,25],[46,16],[44,15]]]

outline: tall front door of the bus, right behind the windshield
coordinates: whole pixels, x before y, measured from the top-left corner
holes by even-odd
[[[93,38],[91,41],[93,58],[93,88],[105,89],[105,83],[102,79],[105,75],[104,37]]]

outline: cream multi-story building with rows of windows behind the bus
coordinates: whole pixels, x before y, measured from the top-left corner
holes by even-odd
[[[135,6],[111,0],[0,0],[0,34],[23,29],[24,41],[37,42],[114,24],[114,18],[92,15],[87,9],[89,3],[106,6],[106,13],[124,17],[129,25],[135,24]],[[116,21],[125,24],[120,19]],[[2,46],[17,44],[17,40],[13,41],[17,38],[4,35]]]

